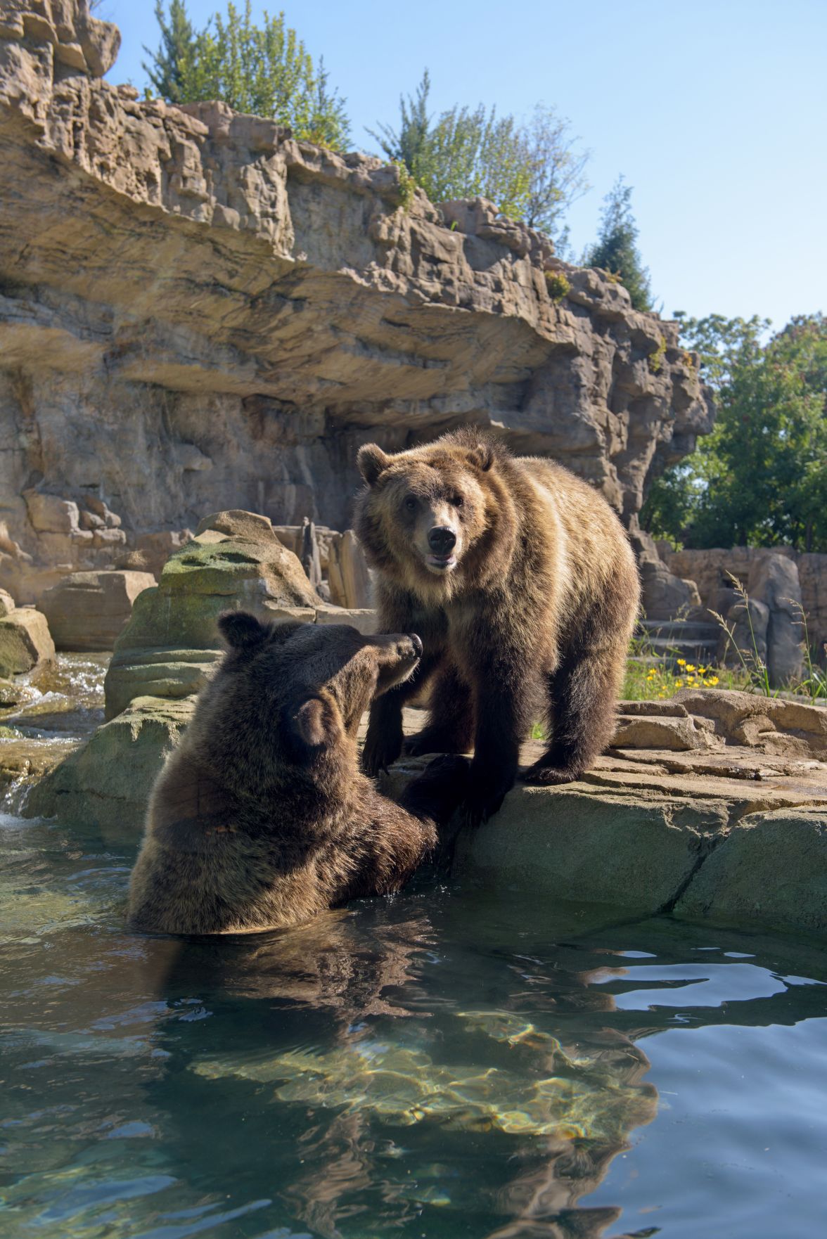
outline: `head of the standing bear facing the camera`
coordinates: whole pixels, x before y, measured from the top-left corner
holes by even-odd
[[[474,431],[396,455],[366,444],[356,532],[372,566],[414,592],[445,596],[500,570],[515,536],[506,460]]]

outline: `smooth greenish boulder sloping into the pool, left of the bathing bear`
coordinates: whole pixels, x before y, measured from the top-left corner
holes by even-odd
[[[35,784],[22,817],[136,836],[153,783],[192,709],[191,701],[138,698]]]

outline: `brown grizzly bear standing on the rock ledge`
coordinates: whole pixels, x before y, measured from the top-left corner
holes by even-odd
[[[377,700],[369,773],[402,750],[402,705],[431,680],[408,751],[465,752],[464,807],[486,820],[513,786],[520,743],[552,726],[532,783],[577,778],[611,738],[640,586],[606,501],[552,461],[513,457],[471,427],[410,451],[360,450],[356,532],[378,574],[382,631],[415,629],[419,674]]]

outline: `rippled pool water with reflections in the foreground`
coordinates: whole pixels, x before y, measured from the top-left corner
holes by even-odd
[[[823,1233],[820,953],[428,883],[138,938],[134,850],[0,825],[4,1239]]]

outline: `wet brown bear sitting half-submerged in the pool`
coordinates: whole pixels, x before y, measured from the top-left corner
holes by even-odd
[[[130,926],[274,929],[397,891],[460,803],[469,764],[431,763],[402,804],[360,772],[360,719],[414,670],[419,637],[242,611],[218,626],[229,652],[153,790]]]

